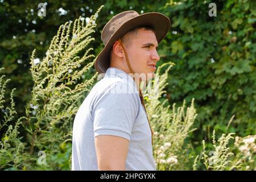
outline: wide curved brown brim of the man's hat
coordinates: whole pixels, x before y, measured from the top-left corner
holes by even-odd
[[[161,40],[163,40],[163,38],[167,35],[168,31],[170,30],[171,22],[167,16],[154,12],[135,16],[134,18],[123,23],[122,26],[113,34],[112,38],[109,39],[108,43],[106,43],[105,47],[96,57],[94,67],[96,68],[97,72],[105,73],[106,70],[109,68],[110,51],[115,41],[117,41],[130,30],[133,30],[134,28],[139,26],[154,27],[156,40],[159,43]]]

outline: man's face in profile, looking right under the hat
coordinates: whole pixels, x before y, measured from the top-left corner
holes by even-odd
[[[126,50],[133,71],[139,75],[144,74],[150,80],[155,76],[155,65],[160,59],[156,51],[158,41],[154,32],[141,28],[137,34],[131,34],[128,38],[131,41],[130,45],[126,45]]]

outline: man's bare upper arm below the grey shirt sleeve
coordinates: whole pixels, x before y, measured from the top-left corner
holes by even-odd
[[[95,138],[98,170],[125,171],[129,140],[113,135],[99,135]]]

